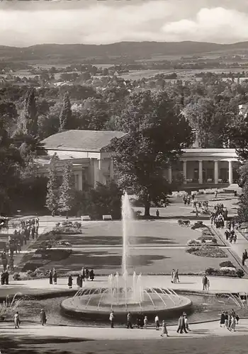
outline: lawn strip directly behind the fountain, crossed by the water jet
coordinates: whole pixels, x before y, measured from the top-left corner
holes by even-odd
[[[222,261],[235,260],[227,253],[227,258],[199,257],[186,253],[184,249],[131,249],[128,258],[129,272],[135,270],[142,274],[170,274],[173,268],[179,273],[198,273],[205,268],[219,268]],[[72,252],[72,255],[60,262],[50,262],[45,268],[55,267],[57,270],[73,271],[81,267],[94,268],[96,275],[120,272],[121,249],[85,250]],[[237,268],[238,265],[237,265]]]

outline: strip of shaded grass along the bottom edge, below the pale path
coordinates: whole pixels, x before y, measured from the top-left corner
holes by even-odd
[[[97,329],[96,329],[97,338]],[[247,336],[158,338],[144,341],[84,341],[69,338],[20,338],[1,334],[3,354],[246,354]]]

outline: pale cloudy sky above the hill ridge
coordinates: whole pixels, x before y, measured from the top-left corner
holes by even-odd
[[[248,40],[247,0],[1,1],[0,45]]]

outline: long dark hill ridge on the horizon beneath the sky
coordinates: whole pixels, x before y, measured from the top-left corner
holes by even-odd
[[[208,42],[118,42],[110,45],[57,45],[44,44],[31,47],[0,46],[0,59],[44,60],[86,59],[92,57],[139,57],[153,55],[194,55],[205,52],[248,50],[248,42],[220,45]]]

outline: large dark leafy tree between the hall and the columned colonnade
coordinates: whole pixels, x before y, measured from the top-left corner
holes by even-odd
[[[149,216],[151,202],[167,201],[164,169],[192,144],[191,127],[167,93],[151,91],[130,96],[118,123],[128,133],[111,144],[118,183],[140,197]]]

